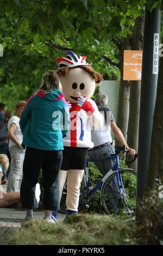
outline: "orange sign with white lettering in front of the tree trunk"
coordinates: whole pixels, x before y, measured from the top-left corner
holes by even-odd
[[[141,80],[142,51],[124,51],[123,80]]]

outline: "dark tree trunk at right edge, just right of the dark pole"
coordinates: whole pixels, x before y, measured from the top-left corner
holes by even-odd
[[[163,183],[163,57],[160,58],[158,89],[154,111],[151,154],[149,159],[147,188],[155,187],[155,179]]]

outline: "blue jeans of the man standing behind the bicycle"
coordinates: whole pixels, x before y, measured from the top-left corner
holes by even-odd
[[[115,149],[112,145],[106,145],[101,149],[93,149],[88,151],[88,156],[91,157],[99,172],[104,176],[115,164],[115,160],[109,160],[108,157],[111,154],[115,154]],[[118,200],[121,199],[120,195],[117,193],[118,185],[116,178],[112,178],[109,185],[106,185],[106,190],[108,191],[108,198],[110,206],[114,211],[118,211]]]

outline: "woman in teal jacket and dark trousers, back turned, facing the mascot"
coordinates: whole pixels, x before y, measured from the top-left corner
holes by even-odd
[[[44,219],[56,222],[52,211],[59,209],[58,172],[64,149],[62,137],[69,127],[68,106],[59,86],[57,74],[49,70],[21,115],[22,147],[26,147],[26,154],[20,194],[22,207],[27,209],[25,220],[33,219],[35,186],[42,168]]]

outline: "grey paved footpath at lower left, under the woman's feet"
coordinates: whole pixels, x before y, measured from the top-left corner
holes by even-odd
[[[43,219],[43,211],[34,211],[34,218]],[[21,222],[26,216],[26,211],[22,209],[14,208],[0,208],[0,245],[9,245],[9,237],[12,235],[12,232],[21,227]],[[57,215],[58,222],[62,222],[65,218],[65,215]]]

